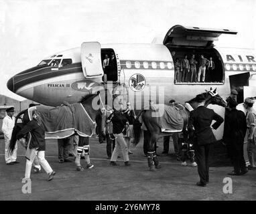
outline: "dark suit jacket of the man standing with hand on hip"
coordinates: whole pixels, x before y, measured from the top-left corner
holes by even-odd
[[[215,120],[216,122],[212,124],[212,120]],[[190,136],[192,136],[194,126],[196,143],[200,145],[210,144],[216,141],[212,128],[217,129],[223,121],[223,118],[216,114],[214,110],[204,106],[198,106],[198,108],[190,112],[188,131],[190,132]],[[212,124],[212,128],[210,127],[210,124]]]

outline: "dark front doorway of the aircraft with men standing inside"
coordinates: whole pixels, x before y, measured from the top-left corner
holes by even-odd
[[[117,59],[113,49],[101,49],[101,63],[104,74],[107,75],[107,81],[117,82]]]

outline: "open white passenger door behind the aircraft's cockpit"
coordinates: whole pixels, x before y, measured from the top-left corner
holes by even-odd
[[[101,44],[97,41],[84,42],[81,45],[82,72],[85,78],[103,76],[101,65]]]

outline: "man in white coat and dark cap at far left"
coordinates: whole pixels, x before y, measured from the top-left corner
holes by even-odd
[[[13,132],[13,127],[15,124],[15,117],[14,114],[14,108],[7,108],[6,109],[7,116],[3,118],[3,126],[2,131],[3,135],[5,137],[5,162],[7,165],[13,165],[15,163],[19,163],[16,161],[17,159],[17,143],[15,144],[15,149],[13,150],[12,154],[9,154],[9,144],[11,140],[11,134]]]

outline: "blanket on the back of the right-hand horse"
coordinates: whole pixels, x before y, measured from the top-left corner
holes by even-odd
[[[151,106],[162,132],[181,132],[184,126],[182,113],[176,106],[154,104]],[[154,115],[152,115],[154,116]]]

